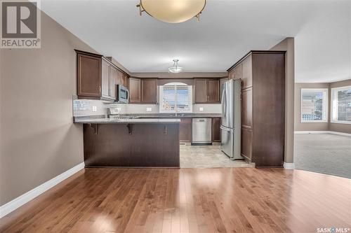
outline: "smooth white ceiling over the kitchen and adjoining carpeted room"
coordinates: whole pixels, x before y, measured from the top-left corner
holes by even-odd
[[[350,78],[350,1],[208,0],[201,22],[138,15],[138,0],[41,1],[62,26],[131,72],[225,71],[249,50],[296,38],[296,82]]]

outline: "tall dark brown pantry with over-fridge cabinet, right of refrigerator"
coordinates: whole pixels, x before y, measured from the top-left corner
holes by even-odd
[[[242,80],[241,155],[256,167],[283,167],[285,52],[251,51],[229,73]]]

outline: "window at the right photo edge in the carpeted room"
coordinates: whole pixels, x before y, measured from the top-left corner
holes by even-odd
[[[331,88],[331,122],[351,124],[351,86]]]

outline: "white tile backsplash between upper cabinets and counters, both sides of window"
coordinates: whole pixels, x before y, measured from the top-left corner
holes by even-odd
[[[120,113],[159,113],[157,104],[106,104],[101,100],[74,99],[73,115],[106,115],[107,108],[120,108]],[[221,113],[220,104],[194,104],[192,113]]]

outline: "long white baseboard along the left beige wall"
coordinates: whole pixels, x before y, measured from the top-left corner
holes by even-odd
[[[27,202],[31,201],[35,197],[38,197],[43,192],[53,188],[55,185],[58,185],[58,183],[69,178],[69,176],[76,174],[81,169],[84,169],[84,162],[78,164],[75,167],[72,167],[72,169],[65,171],[64,173],[52,178],[51,180],[46,181],[45,183],[39,185],[37,188],[29,190],[25,194],[20,195],[20,197],[13,199],[11,202],[8,202],[0,206],[0,218],[8,215],[8,213],[11,213],[15,209],[18,209],[20,206],[26,204]]]

